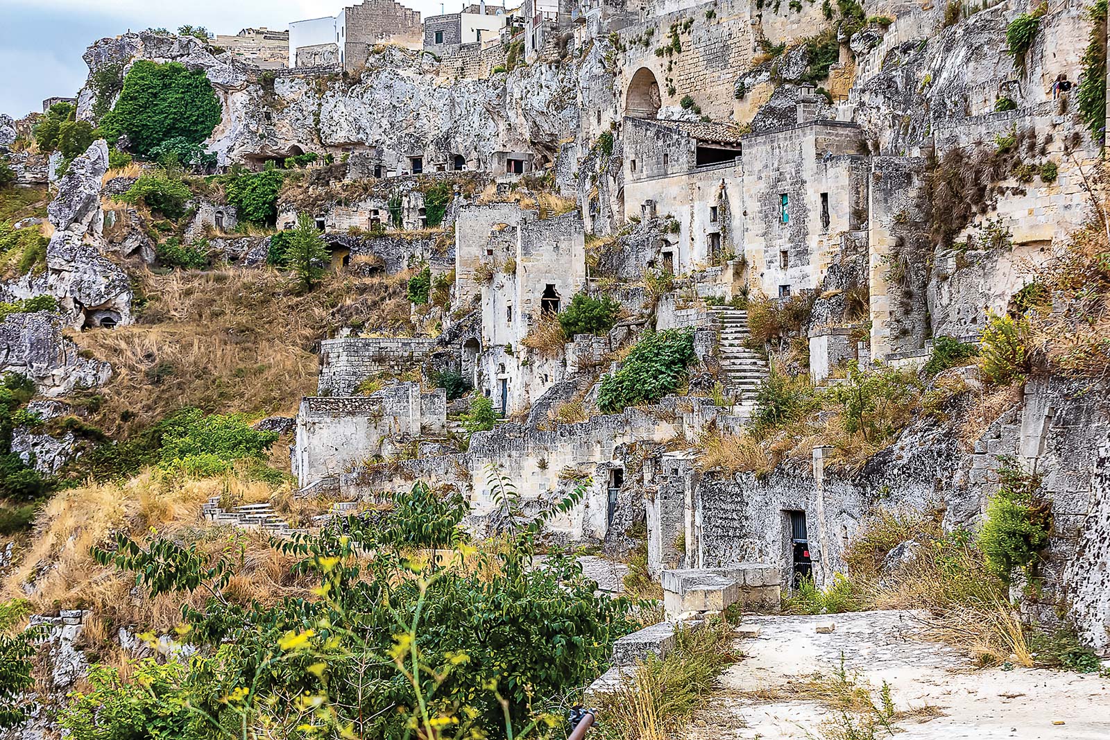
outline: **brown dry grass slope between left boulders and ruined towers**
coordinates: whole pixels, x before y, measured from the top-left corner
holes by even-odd
[[[90,419],[128,436],[182,406],[292,414],[315,392],[320,339],[345,324],[411,334],[401,276],[330,276],[307,295],[270,270],[144,273],[139,323],[91,330],[81,348],[112,363]]]

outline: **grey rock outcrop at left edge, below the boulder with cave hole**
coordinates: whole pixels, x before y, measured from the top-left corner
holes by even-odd
[[[11,314],[0,322],[0,373],[8,372],[31,378],[44,396],[60,396],[103,385],[112,366],[82,357],[77,345],[62,336],[61,317],[39,311]]]

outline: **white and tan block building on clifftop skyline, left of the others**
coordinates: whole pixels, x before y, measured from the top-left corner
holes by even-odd
[[[395,0],[363,0],[334,17],[290,23],[289,59],[293,67],[337,63],[353,72],[377,44],[418,49],[422,40],[420,11]]]

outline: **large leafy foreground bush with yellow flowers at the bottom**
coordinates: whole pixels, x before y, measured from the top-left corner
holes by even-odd
[[[557,723],[545,712],[548,699],[599,675],[614,640],[635,628],[632,602],[595,595],[572,558],[555,551],[543,568],[533,565],[544,521],[582,496],[578,488],[496,547],[475,550],[457,528],[461,498],[417,484],[394,497],[384,519],[350,516],[272,541],[275,560],[291,559],[289,576],[315,581],[317,596],[268,605],[229,604],[222,592],[233,577],[249,578],[240,558],[119,536],[94,550],[98,560],[133,571],[149,594],[204,588],[219,598],[183,610],[184,638],[198,652],[176,668],[151,667],[170,676],[150,700],[130,686],[144,680],[105,681],[94,700],[74,697],[62,724],[74,733],[94,728],[75,737],[97,740],[133,737],[135,727],[149,734],[152,724],[168,728],[155,738],[196,737],[173,724],[178,707],[209,723],[203,737],[233,728],[304,738],[312,727],[322,738],[444,737],[437,728],[504,738]]]

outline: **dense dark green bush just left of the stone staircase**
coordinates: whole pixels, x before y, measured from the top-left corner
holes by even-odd
[[[686,368],[697,359],[694,332],[666,330],[636,343],[620,369],[602,378],[597,405],[605,414],[626,406],[650,404],[674,393],[686,379]]]

